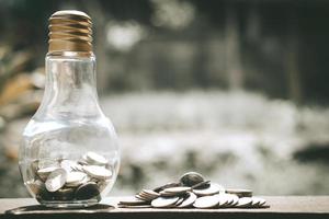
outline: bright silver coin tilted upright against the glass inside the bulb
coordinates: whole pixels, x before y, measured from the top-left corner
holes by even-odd
[[[65,185],[67,172],[64,169],[53,171],[45,183],[47,191],[56,192]]]

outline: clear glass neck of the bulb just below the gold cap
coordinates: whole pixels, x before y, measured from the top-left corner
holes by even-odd
[[[94,56],[46,57],[46,85],[37,115],[49,119],[98,117]]]

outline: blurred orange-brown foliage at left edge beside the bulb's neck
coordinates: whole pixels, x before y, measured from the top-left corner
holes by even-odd
[[[0,47],[0,116],[7,120],[35,112],[41,100],[35,90],[44,88],[45,78],[43,69],[30,70],[31,51],[11,49]]]

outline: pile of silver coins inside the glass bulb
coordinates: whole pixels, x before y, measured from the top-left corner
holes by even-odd
[[[31,163],[33,180],[26,184],[39,201],[100,200],[112,178],[107,159],[89,151],[80,160],[36,160]]]

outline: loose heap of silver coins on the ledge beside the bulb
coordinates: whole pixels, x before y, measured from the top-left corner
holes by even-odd
[[[167,183],[154,189],[143,189],[135,197],[118,203],[122,208],[264,208],[266,200],[253,197],[249,189],[224,188],[205,181],[196,172],[180,177],[179,183]]]

